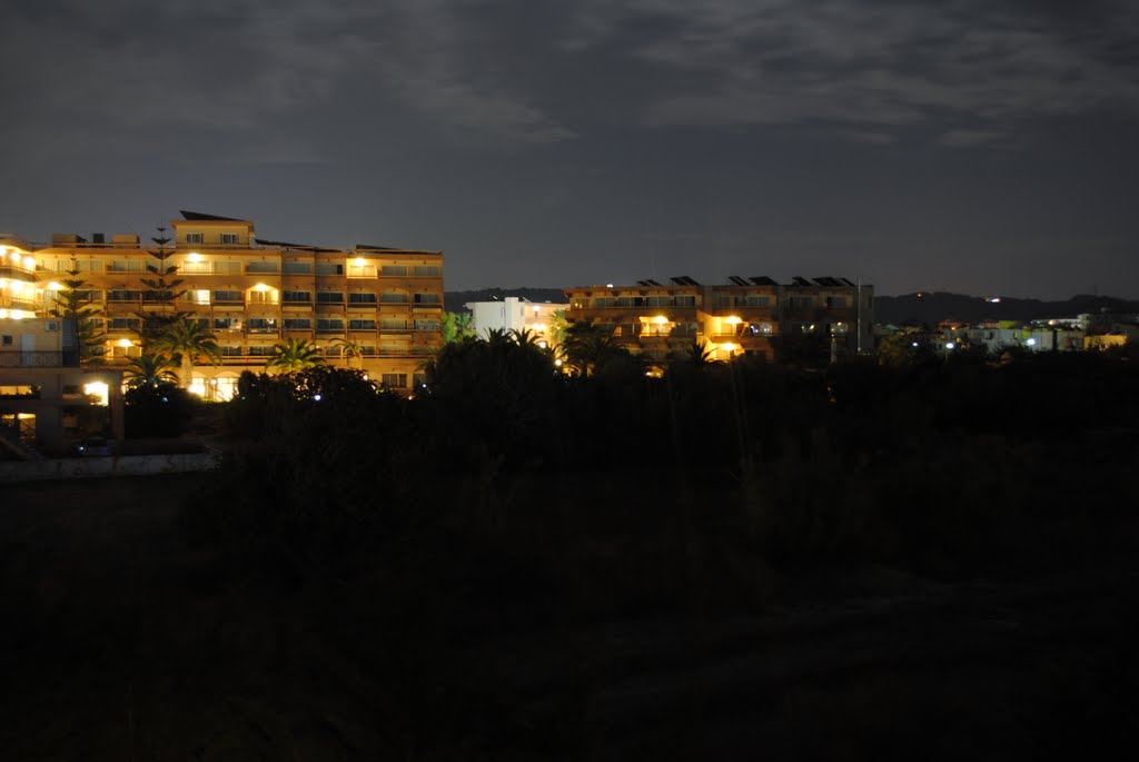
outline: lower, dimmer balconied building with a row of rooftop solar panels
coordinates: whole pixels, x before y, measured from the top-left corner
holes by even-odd
[[[843,354],[872,349],[872,286],[829,277],[796,277],[790,284],[765,276],[728,280],[708,286],[679,276],[669,284],[567,288],[566,319],[601,326],[618,345],[654,360],[694,339],[718,360],[770,359],[779,339],[793,336],[823,337]]]

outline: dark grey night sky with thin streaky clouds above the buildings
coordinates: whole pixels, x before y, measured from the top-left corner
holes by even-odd
[[[8,0],[0,231],[1139,297],[1139,3]]]

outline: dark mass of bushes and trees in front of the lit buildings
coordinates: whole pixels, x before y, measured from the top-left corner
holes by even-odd
[[[527,338],[448,344],[411,401],[355,371],[247,374],[229,409],[245,446],[196,498],[198,526],[297,579],[432,536],[494,543],[582,600],[672,606],[706,598],[707,574],[732,600],[772,570],[1035,563],[1071,522],[1136,497],[1118,468],[1139,425],[1128,361],[812,371],[697,352],[657,378],[585,337],[566,375]],[[593,589],[595,567],[628,587]]]

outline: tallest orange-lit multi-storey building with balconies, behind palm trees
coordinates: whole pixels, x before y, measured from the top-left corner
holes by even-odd
[[[262,370],[273,346],[288,338],[312,342],[330,364],[361,368],[396,390],[410,388],[423,360],[442,344],[441,252],[265,240],[249,220],[194,212],[170,226],[164,246],[137,235],[95,233],[55,235],[50,246],[21,249],[19,268],[28,270],[32,260],[39,281],[35,309],[50,310],[60,280],[83,280],[82,295],[103,312],[110,363],[141,352],[139,312],[189,313],[221,347],[222,363],[195,368],[191,386],[214,399],[228,399],[240,372]],[[177,268],[167,280],[181,280],[170,305],[142,282],[155,278],[148,267],[162,267],[150,254],[158,249],[170,252],[165,265]]]

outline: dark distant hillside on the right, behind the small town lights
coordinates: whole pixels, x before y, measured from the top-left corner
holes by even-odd
[[[1046,302],[1034,298],[1001,297],[990,302],[980,296],[918,292],[902,296],[878,296],[874,300],[875,322],[926,323],[935,326],[942,320],[978,322],[981,320],[1035,320],[1074,318],[1081,313],[1139,312],[1139,302],[1113,296],[1081,294],[1066,302]]]

